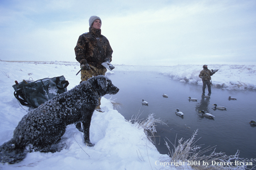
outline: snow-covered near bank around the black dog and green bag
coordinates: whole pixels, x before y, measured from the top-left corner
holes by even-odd
[[[75,76],[77,64],[53,63],[9,63],[0,62],[0,145],[10,140],[13,131],[27,113],[27,107],[20,106],[13,95],[12,85],[17,80],[64,75],[70,82],[68,90],[79,84]],[[24,108],[24,109],[22,109]],[[3,170],[151,170],[170,169],[159,161],[168,155],[161,155],[149,142],[143,129],[130,124],[113,109],[112,103],[102,97],[101,108],[104,113],[95,111],[92,116],[90,136],[94,147],[86,147],[83,134],[74,125],[66,128],[62,141],[67,148],[56,153],[28,153],[17,164],[0,164]],[[163,168],[164,167],[164,168]],[[172,166],[173,170],[176,170]],[[184,169],[188,169],[184,167]]]

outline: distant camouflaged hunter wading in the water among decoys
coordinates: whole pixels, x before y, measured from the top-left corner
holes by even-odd
[[[205,88],[206,88],[206,85],[208,87],[208,96],[211,95],[212,93],[212,90],[211,90],[211,76],[215,73],[215,72],[212,72],[211,70],[209,70],[207,68],[207,65],[203,65],[203,70],[200,71],[200,74],[199,74],[199,77],[202,79],[202,95],[204,96],[205,95]]]

